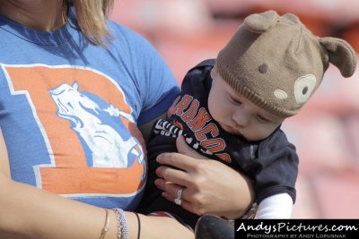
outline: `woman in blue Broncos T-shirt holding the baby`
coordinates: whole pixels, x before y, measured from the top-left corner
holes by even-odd
[[[179,89],[144,38],[107,21],[112,4],[0,3],[1,238],[193,237],[171,218],[121,210],[136,209],[144,188],[138,128],[146,132]],[[179,147],[187,156],[163,155],[162,163],[178,158],[186,167],[190,161],[197,170],[185,174],[197,180],[163,167],[159,187],[167,198],[186,187],[187,209],[240,217],[251,200],[247,181],[232,173],[217,182],[215,171],[231,169],[193,163],[186,158],[197,155],[183,142]],[[233,203],[216,206],[219,191]]]

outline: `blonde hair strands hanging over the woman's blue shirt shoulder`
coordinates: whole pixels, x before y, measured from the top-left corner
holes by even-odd
[[[94,45],[106,47],[112,38],[106,21],[112,10],[114,0],[64,0],[64,4],[74,4],[78,24],[85,38]]]

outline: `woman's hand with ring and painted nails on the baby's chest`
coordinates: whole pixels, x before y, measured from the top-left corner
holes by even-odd
[[[254,200],[250,179],[216,160],[208,160],[191,149],[183,137],[177,139],[179,153],[163,153],[157,161],[155,184],[169,201],[184,187],[181,206],[197,215],[213,214],[240,218]],[[176,168],[173,168],[176,167]]]

